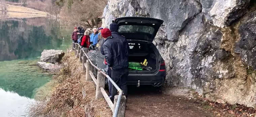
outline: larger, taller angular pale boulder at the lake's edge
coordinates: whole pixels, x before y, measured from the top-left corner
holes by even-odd
[[[46,63],[52,63],[52,64],[60,63],[64,54],[65,53],[62,50],[44,49],[43,52],[41,53],[40,61],[46,62]]]

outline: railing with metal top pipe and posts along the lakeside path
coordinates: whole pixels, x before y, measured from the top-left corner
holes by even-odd
[[[75,45],[75,46],[74,46]],[[74,47],[73,47],[74,46]],[[125,106],[126,106],[126,97],[122,96],[123,91],[118,87],[118,85],[101,69],[93,65],[91,58],[88,57],[85,50],[81,48],[78,43],[72,43],[72,49],[75,51],[75,55],[79,58],[79,61],[82,62],[83,71],[86,71],[86,81],[93,81],[96,84],[96,99],[105,98],[108,106],[113,112],[113,117],[124,117],[125,116]],[[81,51],[82,50],[82,51]],[[86,60],[86,61],[85,61]],[[92,72],[92,67],[97,69],[97,79],[94,77]],[[108,97],[105,87],[105,77],[116,87],[119,95],[115,96],[114,104]],[[122,104],[121,104],[122,102]],[[121,104],[121,108],[120,108]],[[116,105],[116,106],[114,106]]]

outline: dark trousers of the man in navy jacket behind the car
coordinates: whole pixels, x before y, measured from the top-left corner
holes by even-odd
[[[124,68],[120,70],[112,70],[112,80],[123,90],[123,95],[127,98],[127,77],[129,75],[129,69]],[[112,85],[112,94],[111,94],[111,101],[114,103],[115,95],[117,95],[117,89],[114,85]]]

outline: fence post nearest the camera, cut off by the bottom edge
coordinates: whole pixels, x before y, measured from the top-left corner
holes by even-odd
[[[117,99],[118,99],[118,95],[115,95],[114,107],[116,107],[117,105]],[[126,100],[127,100],[126,97],[122,95],[117,117],[125,117]]]

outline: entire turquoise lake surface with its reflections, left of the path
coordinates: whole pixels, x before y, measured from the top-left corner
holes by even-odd
[[[48,18],[0,20],[0,116],[20,117],[33,101],[36,89],[49,82],[51,75],[36,62],[44,49],[71,46],[73,29],[60,28]]]

